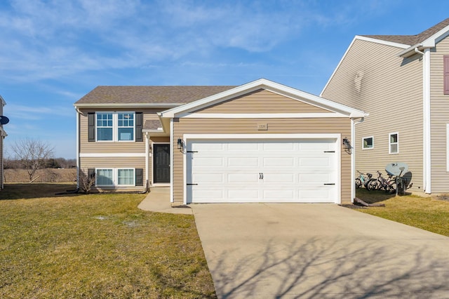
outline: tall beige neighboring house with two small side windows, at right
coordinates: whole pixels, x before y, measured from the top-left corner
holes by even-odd
[[[321,96],[369,112],[356,169],[404,162],[412,192],[449,192],[449,18],[417,35],[355,36]]]

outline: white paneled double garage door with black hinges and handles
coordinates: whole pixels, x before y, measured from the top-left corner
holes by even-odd
[[[337,202],[335,139],[189,140],[187,202]]]

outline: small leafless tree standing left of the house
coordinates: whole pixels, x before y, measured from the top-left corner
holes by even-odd
[[[45,164],[45,161],[53,157],[53,147],[48,142],[39,139],[25,138],[16,140],[11,146],[15,153],[15,159],[27,170],[29,182],[36,180],[36,171]]]

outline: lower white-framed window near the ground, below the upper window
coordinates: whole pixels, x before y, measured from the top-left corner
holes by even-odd
[[[97,168],[95,185],[135,186],[134,174],[134,168]]]

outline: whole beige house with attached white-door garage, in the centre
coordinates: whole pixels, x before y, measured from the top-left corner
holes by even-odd
[[[350,202],[342,145],[364,112],[266,79],[242,86],[98,86],[74,106],[94,190],[170,186],[174,204]],[[352,163],[352,165],[351,165]]]

